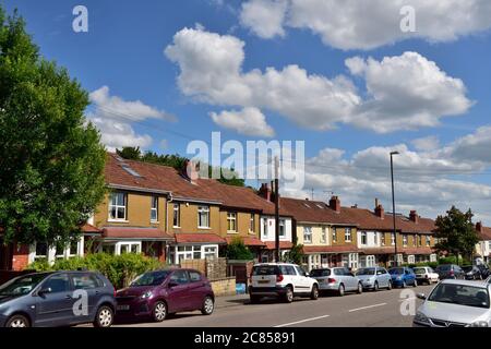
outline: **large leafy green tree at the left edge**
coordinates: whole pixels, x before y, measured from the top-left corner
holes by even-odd
[[[88,95],[0,8],[0,227],[9,243],[69,242],[105,193]]]

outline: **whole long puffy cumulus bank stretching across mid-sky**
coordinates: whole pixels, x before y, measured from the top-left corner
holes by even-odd
[[[415,130],[471,106],[459,79],[416,52],[346,60],[350,73],[366,82],[367,97],[361,97],[348,76],[309,74],[296,64],[243,72],[243,47],[231,35],[183,28],[165,55],[180,68],[184,95],[212,105],[267,109],[311,130],[342,123],[380,133]]]

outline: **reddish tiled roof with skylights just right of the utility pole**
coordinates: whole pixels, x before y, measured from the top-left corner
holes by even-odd
[[[336,213],[326,203],[321,201],[280,197],[279,204],[283,209],[301,222],[357,225],[344,209],[340,213]]]

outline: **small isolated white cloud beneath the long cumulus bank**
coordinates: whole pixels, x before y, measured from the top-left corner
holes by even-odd
[[[275,135],[273,128],[266,123],[266,117],[258,108],[224,110],[220,113],[211,112],[209,116],[216,124],[240,134],[264,137]]]

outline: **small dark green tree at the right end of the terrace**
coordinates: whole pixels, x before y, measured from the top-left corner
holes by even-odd
[[[455,206],[446,212],[446,216],[439,216],[435,221],[435,238],[439,239],[436,250],[450,252],[457,257],[462,253],[470,260],[476,243],[479,242],[472,216],[470,209],[463,213]]]

